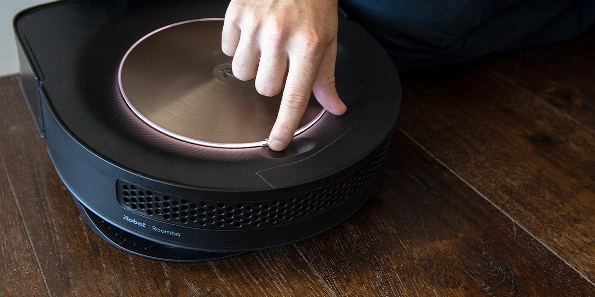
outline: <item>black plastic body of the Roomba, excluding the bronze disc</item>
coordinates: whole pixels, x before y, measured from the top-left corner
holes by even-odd
[[[336,76],[348,112],[325,113],[283,152],[184,143],[134,116],[115,79],[126,50],[159,27],[226,8],[80,0],[15,17],[23,93],[49,156],[89,226],[119,248],[199,261],[299,241],[345,220],[380,179],[399,78],[380,46],[342,17]]]

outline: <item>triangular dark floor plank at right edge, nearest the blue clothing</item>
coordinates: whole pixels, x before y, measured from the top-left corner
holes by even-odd
[[[549,46],[497,55],[483,65],[595,132],[595,27]]]

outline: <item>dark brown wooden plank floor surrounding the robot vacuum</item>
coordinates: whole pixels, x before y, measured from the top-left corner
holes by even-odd
[[[402,75],[389,167],[345,223],[227,260],[147,260],[79,216],[0,78],[0,296],[594,296],[595,31]]]

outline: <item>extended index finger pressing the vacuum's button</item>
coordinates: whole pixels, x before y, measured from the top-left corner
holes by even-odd
[[[268,146],[271,150],[281,151],[292,140],[308,106],[321,58],[320,55],[289,57],[289,70],[281,106],[268,138]]]

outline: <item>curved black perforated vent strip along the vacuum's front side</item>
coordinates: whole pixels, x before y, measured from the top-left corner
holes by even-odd
[[[119,180],[118,202],[143,216],[202,229],[248,229],[276,226],[324,212],[367,185],[380,172],[389,143],[352,175],[300,195],[246,202],[217,202],[177,197]]]

